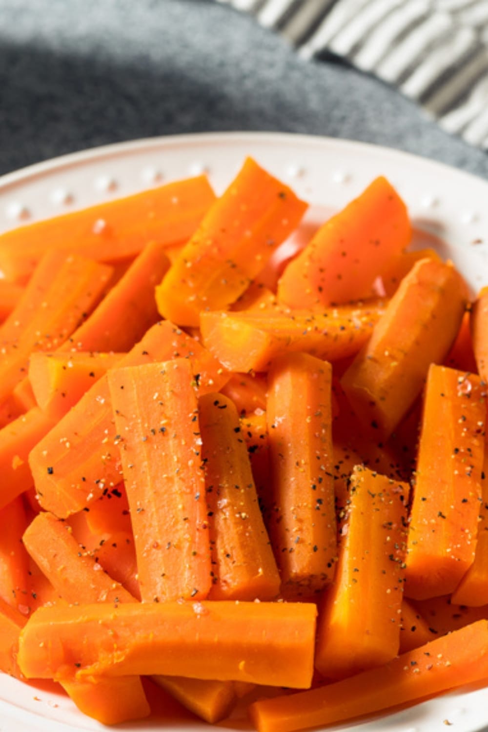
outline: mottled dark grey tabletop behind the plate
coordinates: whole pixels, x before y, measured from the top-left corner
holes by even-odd
[[[0,173],[105,143],[281,130],[397,147],[488,178],[487,155],[334,61],[209,0],[0,0]]]

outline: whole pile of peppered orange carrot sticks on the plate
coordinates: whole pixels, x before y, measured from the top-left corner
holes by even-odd
[[[0,236],[0,671],[258,732],[488,678],[488,288],[383,177],[275,264],[306,209],[248,159]]]

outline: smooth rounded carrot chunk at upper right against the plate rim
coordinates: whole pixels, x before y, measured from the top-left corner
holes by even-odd
[[[312,307],[371,297],[378,272],[411,236],[405,203],[386,178],[377,178],[288,264],[278,299],[290,307]]]

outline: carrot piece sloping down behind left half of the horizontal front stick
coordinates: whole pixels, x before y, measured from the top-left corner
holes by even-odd
[[[67,602],[135,602],[93,557],[80,552],[70,527],[52,514],[36,516],[23,534],[23,543]]]

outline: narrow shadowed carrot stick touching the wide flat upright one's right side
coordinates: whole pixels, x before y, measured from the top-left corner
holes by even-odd
[[[279,573],[258,504],[239,416],[230,399],[198,401],[209,505],[210,600],[273,600]]]

